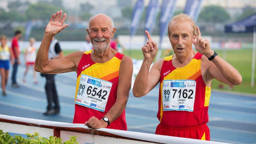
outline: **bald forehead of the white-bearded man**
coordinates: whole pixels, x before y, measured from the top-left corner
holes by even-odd
[[[111,19],[106,15],[96,15],[91,18],[89,23],[89,29],[101,29],[101,28],[112,28]]]

